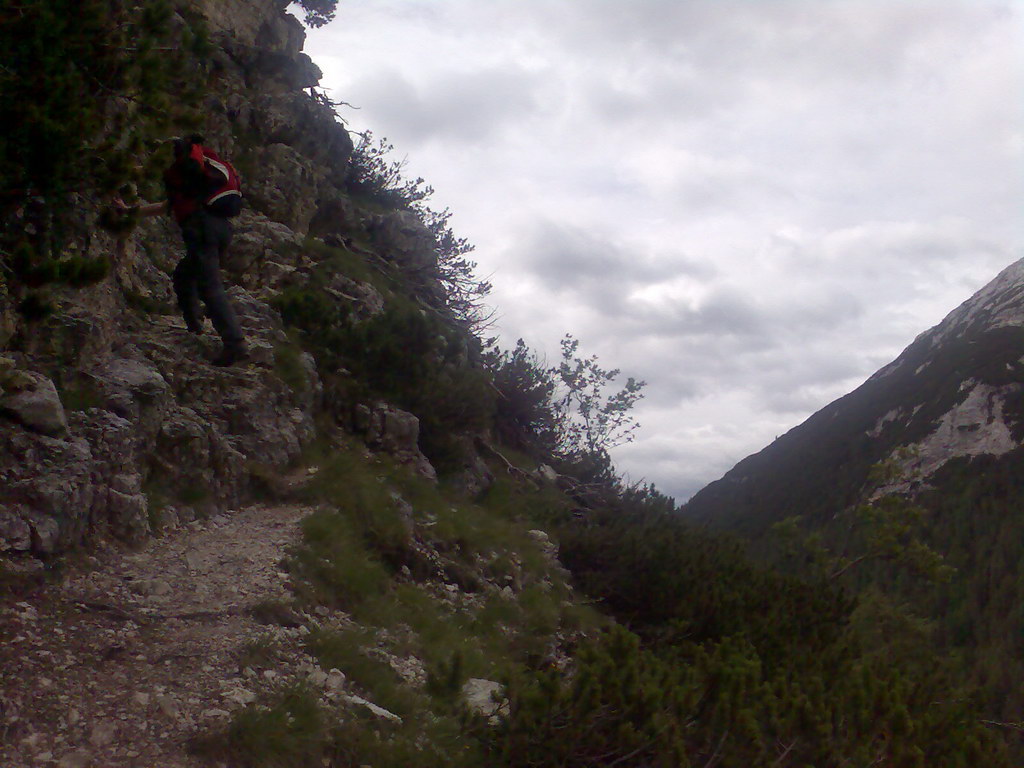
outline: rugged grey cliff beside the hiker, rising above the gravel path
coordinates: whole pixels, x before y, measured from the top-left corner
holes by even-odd
[[[248,206],[222,266],[250,364],[215,369],[206,362],[212,330],[185,332],[169,276],[182,250],[172,222],[114,236],[94,225],[102,201],[79,198],[66,248],[109,260],[110,276],[54,288],[42,319],[24,316],[13,288],[0,287],[0,552],[46,555],[106,535],[138,541],[158,524],[237,506],[254,476],[298,459],[318,419],[322,434],[359,431],[433,474],[414,415],[366,393],[340,395],[334,372],[325,407],[317,360],[272,301],[330,272],[323,289],[352,322],[398,296],[453,328],[424,225],[361,205],[346,187],[352,141],[315,97],[319,71],[286,5],[196,0],[171,22],[183,27],[198,10],[213,42],[195,62],[205,79],[199,128],[244,176]],[[339,254],[362,264],[356,276],[325,269]],[[382,290],[367,272],[391,282],[378,281]]]

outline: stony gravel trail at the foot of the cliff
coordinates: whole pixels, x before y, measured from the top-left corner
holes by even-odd
[[[240,649],[268,635],[286,654],[299,645],[301,629],[248,609],[287,598],[281,560],[309,512],[254,506],[189,523],[0,602],[0,766],[200,765],[186,739],[264,682],[240,670]]]

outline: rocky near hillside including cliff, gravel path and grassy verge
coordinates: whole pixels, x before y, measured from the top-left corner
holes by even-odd
[[[2,765],[319,765],[333,744],[447,765],[446,697],[485,720],[488,678],[563,664],[588,612],[543,530],[472,501],[497,474],[462,419],[477,342],[422,217],[353,193],[287,5],[182,0],[171,19],[211,33],[202,131],[244,177],[222,264],[244,364],[185,330],[165,218],[115,236],[78,197],[69,253],[111,272],[45,287],[46,316],[0,269]],[[433,420],[443,487],[392,392]],[[565,503],[517,464],[496,466],[502,493]],[[432,675],[458,685],[428,693]]]

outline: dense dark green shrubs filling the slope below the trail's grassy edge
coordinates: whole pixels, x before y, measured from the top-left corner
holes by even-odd
[[[898,605],[758,564],[642,498],[559,541],[578,586],[633,637],[598,638],[573,677],[514,683],[500,764],[1014,764]]]

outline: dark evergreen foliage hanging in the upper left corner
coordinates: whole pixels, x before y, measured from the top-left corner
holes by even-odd
[[[76,226],[88,239],[84,211],[150,175],[140,158],[188,120],[202,83],[184,61],[206,49],[202,26],[166,0],[19,0],[0,11],[0,271],[23,307],[46,304],[33,289],[106,273],[65,249]]]

